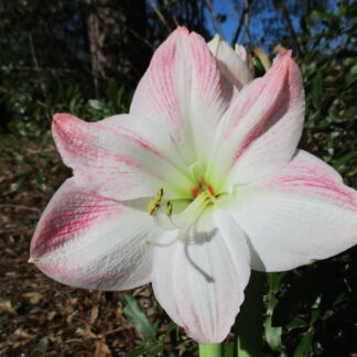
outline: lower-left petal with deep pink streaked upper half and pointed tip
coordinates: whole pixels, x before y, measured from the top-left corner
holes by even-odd
[[[62,283],[126,290],[150,282],[159,235],[145,210],[88,193],[67,180],[43,213],[31,241],[31,258]]]

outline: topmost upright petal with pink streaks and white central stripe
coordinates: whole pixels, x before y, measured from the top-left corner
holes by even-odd
[[[226,88],[206,42],[178,28],[154,53],[130,112],[164,126],[193,163],[210,148],[227,105]]]

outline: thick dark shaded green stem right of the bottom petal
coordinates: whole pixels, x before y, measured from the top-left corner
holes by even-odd
[[[264,283],[264,273],[251,272],[245,291],[245,302],[240,306],[234,327],[235,357],[262,356]]]

